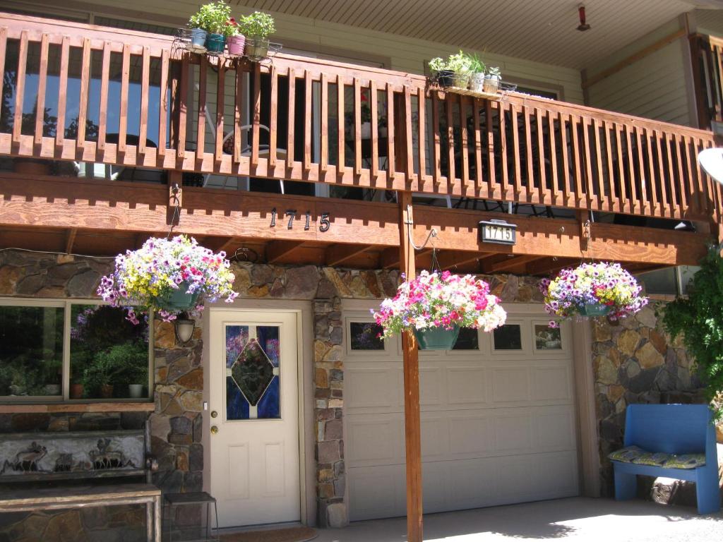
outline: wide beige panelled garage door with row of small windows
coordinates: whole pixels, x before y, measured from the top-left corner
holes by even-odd
[[[419,353],[424,512],[578,494],[569,327],[509,304],[495,334]],[[344,435],[351,520],[406,514],[401,345],[346,310]]]

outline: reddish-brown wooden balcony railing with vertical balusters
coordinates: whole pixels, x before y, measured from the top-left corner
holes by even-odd
[[[12,14],[0,68],[0,154],[719,219],[696,161],[712,134],[684,126],[317,59],[209,59],[163,36]]]

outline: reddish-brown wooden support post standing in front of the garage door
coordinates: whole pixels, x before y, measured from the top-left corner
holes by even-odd
[[[413,220],[411,192],[398,192],[399,267],[407,280],[416,275],[408,223]],[[402,335],[404,366],[404,435],[406,442],[407,541],[422,542],[422,429],[419,419],[419,353],[411,331]]]

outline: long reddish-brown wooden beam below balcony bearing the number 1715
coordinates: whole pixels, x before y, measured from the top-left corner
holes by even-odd
[[[148,148],[150,152],[151,148]],[[163,185],[103,182],[72,178],[22,178],[0,173],[0,227],[82,228],[83,231],[132,231],[145,236],[168,231],[168,188]],[[378,246],[381,267],[398,264],[396,206],[291,195],[184,188],[179,231],[192,236],[236,237],[257,241],[312,242],[317,246]],[[273,222],[273,209],[277,210]],[[296,210],[291,228],[286,210]],[[309,229],[305,215],[309,211]],[[322,215],[329,227],[322,231]],[[416,207],[414,238],[432,228],[435,245],[446,252],[479,252],[580,258],[581,228],[575,220],[507,215],[515,223],[515,245],[482,243],[479,220],[499,218],[494,212]],[[589,251],[596,259],[661,265],[695,265],[706,254],[709,235],[687,231],[594,223]],[[396,254],[396,255],[395,255]]]

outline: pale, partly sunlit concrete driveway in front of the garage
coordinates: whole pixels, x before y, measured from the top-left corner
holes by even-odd
[[[403,542],[406,519],[354,522],[321,529],[315,542]],[[424,517],[424,540],[723,542],[723,514],[698,516],[688,507],[641,500],[558,499]]]

